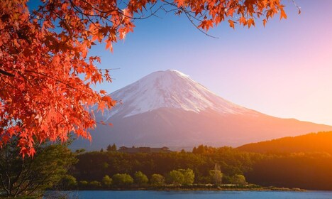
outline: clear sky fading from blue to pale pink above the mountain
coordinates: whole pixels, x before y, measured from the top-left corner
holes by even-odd
[[[111,93],[157,70],[189,75],[220,97],[275,117],[332,125],[332,1],[297,0],[265,28],[221,23],[199,32],[185,16],[164,14],[135,21],[133,33],[114,45],[96,45],[99,68],[114,81],[99,85]]]

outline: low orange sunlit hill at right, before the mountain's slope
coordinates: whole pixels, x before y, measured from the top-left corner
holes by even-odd
[[[260,141],[237,149],[255,153],[326,152],[332,155],[332,131]]]

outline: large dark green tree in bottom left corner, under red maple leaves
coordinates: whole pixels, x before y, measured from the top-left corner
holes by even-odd
[[[17,140],[0,149],[0,193],[6,197],[38,197],[59,183],[77,162],[66,145],[49,143],[35,146],[34,157],[22,158]]]

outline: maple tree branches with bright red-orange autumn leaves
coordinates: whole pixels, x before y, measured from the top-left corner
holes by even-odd
[[[97,42],[106,49],[133,31],[135,19],[159,10],[184,14],[201,31],[228,21],[255,26],[280,14],[282,0],[28,0],[0,2],[0,145],[18,137],[23,156],[33,145],[66,141],[70,132],[91,139],[98,110],[116,103],[92,85],[111,82],[99,57],[88,56]]]

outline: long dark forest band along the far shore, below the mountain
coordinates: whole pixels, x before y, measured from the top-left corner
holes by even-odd
[[[94,151],[77,156],[70,175],[77,183],[101,182],[118,173],[134,178],[140,171],[150,179],[153,174],[165,177],[171,171],[190,169],[197,184],[211,183],[216,164],[222,183],[234,183],[234,176],[245,176],[248,183],[287,188],[332,190],[332,156],[323,152],[257,154],[231,147],[195,147],[192,152],[125,154]],[[108,177],[107,177],[108,178]]]

